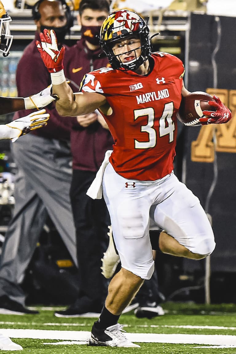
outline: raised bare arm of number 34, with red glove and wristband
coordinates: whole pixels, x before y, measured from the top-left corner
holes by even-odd
[[[51,74],[53,96],[57,97],[56,109],[62,116],[77,116],[94,112],[106,102],[104,96],[99,93],[73,93],[67,84],[64,70],[63,58],[65,47],[58,49],[56,35],[53,30],[44,29],[40,33],[40,41],[36,41],[36,46],[41,58]]]

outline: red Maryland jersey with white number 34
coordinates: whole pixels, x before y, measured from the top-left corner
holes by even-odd
[[[163,52],[151,56],[154,68],[146,76],[101,68],[88,73],[82,87],[105,95],[112,108],[103,116],[115,141],[110,157],[115,171],[140,181],[155,181],[173,170],[182,98],[182,61]]]

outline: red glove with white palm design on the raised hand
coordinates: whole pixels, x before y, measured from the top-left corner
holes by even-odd
[[[52,29],[44,29],[44,33],[40,33],[40,40],[41,42],[36,41],[36,46],[47,70],[50,73],[62,70],[65,47],[58,49],[55,32]]]

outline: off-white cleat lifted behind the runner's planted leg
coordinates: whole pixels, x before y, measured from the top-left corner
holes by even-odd
[[[117,255],[114,242],[113,242],[113,237],[112,237],[112,227],[108,226],[109,232],[107,233],[109,236],[109,245],[107,248],[107,251],[103,253],[103,258],[101,259],[102,261],[102,274],[105,276],[105,278],[110,279],[113,274],[115,273],[117,265],[120,263],[120,257]]]

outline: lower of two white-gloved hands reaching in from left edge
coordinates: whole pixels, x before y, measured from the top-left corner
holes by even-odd
[[[12,122],[0,125],[0,139],[11,139],[16,141],[20,136],[29,133],[31,130],[39,129],[47,125],[50,117],[45,109],[30,113],[29,115],[13,120]]]

